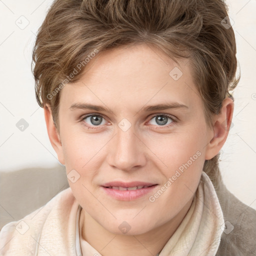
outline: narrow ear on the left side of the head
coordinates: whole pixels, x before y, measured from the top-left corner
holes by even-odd
[[[57,153],[58,160],[63,165],[65,164],[64,155],[63,155],[63,148],[60,140],[60,135],[57,131],[57,128],[54,125],[51,109],[48,105],[43,107],[44,110],[44,118],[46,122],[47,132],[49,136],[50,143],[54,148],[55,152]]]

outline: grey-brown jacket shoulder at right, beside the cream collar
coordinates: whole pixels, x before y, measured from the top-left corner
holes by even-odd
[[[255,256],[256,210],[235,197],[222,181],[216,193],[225,221],[216,256]]]

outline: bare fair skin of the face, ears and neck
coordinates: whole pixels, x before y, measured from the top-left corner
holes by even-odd
[[[50,108],[44,107],[49,139],[59,161],[65,164],[67,173],[75,169],[80,175],[74,183],[68,182],[82,206],[82,238],[104,256],[156,255],[188,211],[204,160],[215,156],[226,140],[233,101],[223,100],[210,129],[189,64],[180,60],[177,65],[147,44],[99,52],[78,82],[61,89],[59,132]],[[175,66],[183,73],[178,80],[169,75]],[[144,106],[174,101],[187,108],[142,110]],[[112,112],[70,109],[77,102],[101,105]],[[90,117],[82,120],[85,114],[103,118],[96,125]],[[162,114],[175,117],[176,122],[170,118],[166,124],[157,122],[155,117]],[[118,126],[123,118],[131,124],[126,131]],[[196,151],[200,156],[154,202],[149,201],[148,197]],[[100,186],[113,180],[158,185],[150,194],[121,201],[107,195]],[[123,221],[131,227],[125,234],[118,228]]]

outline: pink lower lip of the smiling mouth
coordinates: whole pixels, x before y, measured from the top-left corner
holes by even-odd
[[[131,201],[139,197],[142,197],[143,195],[152,191],[155,187],[156,185],[148,186],[145,188],[139,188],[135,190],[118,190],[118,189],[107,188],[102,186],[102,188],[108,195],[110,195],[115,199],[123,200],[123,201]]]

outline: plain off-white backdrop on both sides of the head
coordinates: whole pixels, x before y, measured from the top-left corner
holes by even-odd
[[[30,69],[35,34],[51,3],[0,0],[0,171],[58,163],[43,111],[35,100]],[[227,188],[256,209],[256,0],[227,3],[234,21],[241,80],[234,92],[233,127],[221,149],[220,169]],[[21,118],[29,124],[24,131],[16,127]]]

